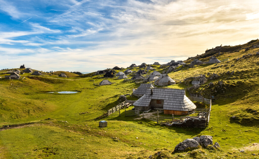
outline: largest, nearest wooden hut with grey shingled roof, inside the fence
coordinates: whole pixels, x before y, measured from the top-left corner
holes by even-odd
[[[164,110],[164,114],[183,115],[196,105],[186,97],[184,89],[147,88],[145,95],[133,103],[135,110]]]

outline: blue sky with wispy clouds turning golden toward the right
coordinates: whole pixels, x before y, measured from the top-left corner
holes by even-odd
[[[0,0],[0,69],[95,72],[259,38],[258,0]]]

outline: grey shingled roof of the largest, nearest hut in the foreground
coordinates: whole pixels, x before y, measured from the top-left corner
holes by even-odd
[[[147,88],[145,95],[133,105],[148,107],[152,99],[164,100],[164,110],[188,111],[188,109],[196,108],[195,104],[186,97],[185,90],[168,88]]]

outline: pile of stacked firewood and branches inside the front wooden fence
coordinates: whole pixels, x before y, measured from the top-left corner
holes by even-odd
[[[161,125],[191,128],[205,127],[206,125],[206,117],[204,116],[187,116],[182,118],[183,119],[162,123]]]

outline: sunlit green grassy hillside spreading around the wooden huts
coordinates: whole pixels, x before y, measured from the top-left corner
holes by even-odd
[[[239,46],[222,46],[221,49],[216,47],[184,62],[190,63],[195,58],[208,61],[212,55],[219,60],[229,58],[228,61],[217,65],[181,66],[169,73],[172,79],[205,74],[208,81],[198,89],[186,91],[186,94],[205,98],[214,96],[207,128],[161,126],[137,116],[125,117],[124,110],[121,116],[105,117],[107,109],[118,104],[120,95],[131,93],[132,88],[140,85],[135,81],[102,78],[102,75],[95,73],[75,78],[78,75],[71,76],[69,72],[64,73],[74,78],[57,78],[54,75],[28,77],[29,74],[24,74],[22,77],[25,78],[20,80],[0,79],[0,158],[131,159],[148,158],[150,155],[161,159],[259,158],[257,45],[259,40]],[[152,67],[163,72],[163,68]],[[137,70],[139,68],[133,69]],[[234,73],[228,74],[228,71]],[[7,71],[0,71],[0,76],[3,77],[4,72]],[[213,73],[219,77],[210,79]],[[103,79],[113,84],[94,85]],[[191,81],[190,78],[168,87],[191,87]],[[214,85],[208,86],[210,82]],[[78,93],[48,93],[59,91]],[[236,120],[232,116],[236,116]],[[108,127],[99,128],[100,120],[108,121]],[[200,135],[211,135],[213,143],[218,142],[221,148],[172,153],[179,142]],[[240,150],[245,152],[241,153]]]

